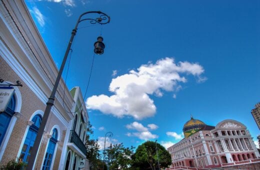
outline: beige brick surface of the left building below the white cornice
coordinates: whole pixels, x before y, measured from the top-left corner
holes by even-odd
[[[4,149],[3,156],[0,160],[0,164],[5,164],[11,159],[15,159],[19,157],[20,147],[22,147],[24,138],[26,137],[26,131],[28,130],[28,121],[30,120],[32,114],[41,110],[42,112],[45,109],[45,103],[43,103],[35,94],[31,91],[31,89],[24,83],[20,77],[12,70],[12,68],[5,62],[5,60],[0,57],[0,72],[2,79],[8,79],[10,82],[15,82],[16,80],[20,80],[22,87],[19,87],[21,96],[22,96],[22,106],[20,110],[20,114],[18,115],[16,122],[14,124],[13,130],[11,131],[10,138]],[[38,152],[38,158],[35,162],[35,167],[40,168],[42,166],[43,157],[45,155],[46,144],[49,140],[47,136],[50,133],[51,128],[54,125],[58,125],[60,134],[60,141],[58,142],[58,146],[56,149],[56,156],[52,160],[54,163],[54,167],[58,167],[60,155],[63,147],[64,141],[64,131],[66,130],[66,126],[56,117],[52,112],[50,113],[49,119],[47,121],[47,125],[45,127],[46,132],[43,134],[40,149]],[[18,144],[17,144],[18,143]]]

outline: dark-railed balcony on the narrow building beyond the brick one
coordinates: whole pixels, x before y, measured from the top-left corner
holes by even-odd
[[[67,144],[68,147],[75,150],[82,157],[85,157],[86,147],[85,147],[84,143],[82,142],[80,137],[77,135],[75,130],[70,130],[70,132],[71,132],[70,140],[69,140],[69,143]]]

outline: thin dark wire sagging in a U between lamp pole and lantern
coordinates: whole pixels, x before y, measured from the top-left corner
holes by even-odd
[[[92,74],[92,69],[93,69],[93,65],[94,65],[95,53],[93,52],[91,68],[90,68],[90,72],[89,72],[89,76],[88,76],[88,81],[87,81],[86,89],[85,89],[84,96],[83,96],[83,101],[81,101],[80,106],[79,106],[75,111],[72,111],[72,112],[71,112],[71,111],[66,110],[66,108],[65,108],[65,106],[64,106],[65,85],[66,85],[67,74],[68,74],[68,69],[69,69],[69,63],[70,63],[71,54],[72,54],[72,49],[70,49],[70,50],[71,50],[71,52],[70,52],[70,55],[69,55],[68,66],[67,66],[67,71],[66,71],[66,76],[65,76],[65,83],[64,83],[64,88],[63,88],[62,105],[63,105],[63,107],[64,107],[64,109],[65,109],[65,111],[66,111],[67,113],[75,113],[75,112],[77,112],[77,111],[82,107],[82,104],[83,104],[83,102],[84,102],[84,100],[85,100],[86,92],[87,92],[87,89],[88,89],[88,86],[89,86],[89,82],[90,82],[90,78],[91,78],[91,74]]]

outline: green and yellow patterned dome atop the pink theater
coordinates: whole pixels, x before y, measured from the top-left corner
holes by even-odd
[[[191,134],[194,134],[195,132],[199,131],[201,128],[203,128],[206,124],[198,119],[194,119],[192,116],[190,117],[190,120],[188,120],[184,126],[183,126],[183,133],[185,138],[190,136]]]

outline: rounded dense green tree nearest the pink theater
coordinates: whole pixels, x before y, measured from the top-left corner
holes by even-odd
[[[156,146],[160,168],[168,167],[171,163],[169,152],[159,143],[154,141],[146,141],[139,145],[132,155],[132,168],[134,169],[157,169],[158,160],[156,154]]]

